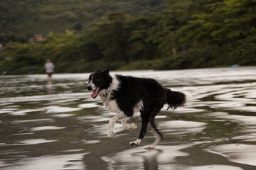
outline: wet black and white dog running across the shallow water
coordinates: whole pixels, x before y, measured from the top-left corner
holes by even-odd
[[[139,137],[131,146],[137,146],[146,135],[147,125],[154,133],[156,140],[149,146],[154,148],[161,142],[163,136],[156,128],[154,118],[163,108],[164,104],[168,108],[175,109],[183,107],[192,98],[187,91],[178,92],[166,89],[154,79],[128,77],[122,75],[110,76],[110,69],[97,71],[90,74],[87,89],[92,91],[91,97],[100,96],[106,108],[110,112],[117,113],[110,119],[108,137],[114,135],[114,123],[122,123],[124,129],[134,129],[137,125],[127,124],[126,121],[134,115],[141,113],[142,129]]]

